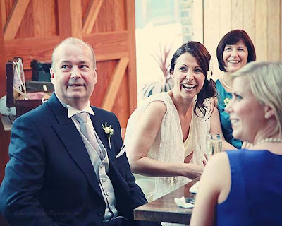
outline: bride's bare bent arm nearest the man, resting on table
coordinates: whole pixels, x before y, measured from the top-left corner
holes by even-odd
[[[126,149],[132,172],[150,177],[184,176],[191,179],[199,177],[203,166],[181,162],[160,162],[147,157],[161,128],[165,113],[164,102],[152,102],[135,122],[135,136],[131,137],[133,141],[130,141],[129,149]],[[170,133],[170,131],[166,132]]]

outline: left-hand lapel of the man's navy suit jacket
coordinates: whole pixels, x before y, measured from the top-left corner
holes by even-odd
[[[71,155],[73,161],[85,174],[87,181],[92,188],[97,191],[97,194],[102,197],[99,182],[97,180],[94,168],[92,166],[90,157],[87,153],[85,145],[80,137],[80,133],[73,124],[73,120],[68,118],[68,112],[59,102],[56,95],[52,95],[48,100],[51,109],[53,110],[58,124],[52,124],[57,136],[61,139],[63,145],[66,147],[68,154]]]

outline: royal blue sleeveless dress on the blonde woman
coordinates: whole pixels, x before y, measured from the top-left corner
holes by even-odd
[[[231,191],[216,207],[216,225],[282,225],[282,155],[226,151]]]

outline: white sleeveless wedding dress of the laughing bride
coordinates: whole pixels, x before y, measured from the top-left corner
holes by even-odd
[[[159,143],[159,148],[156,147],[157,145],[153,144],[147,156],[160,162],[184,162],[185,150],[180,119],[178,117],[177,109],[168,93],[157,93],[152,95],[144,100],[140,107],[137,107],[128,120],[125,135],[125,146],[130,147],[130,141],[132,141],[132,137],[135,136],[135,122],[139,119],[140,114],[146,109],[149,103],[154,101],[163,101],[167,110],[161,123],[161,129],[159,131],[160,136],[157,136],[160,141],[157,141],[157,139],[154,141],[154,143]],[[206,137],[207,133],[209,133],[209,119],[204,120],[196,115],[193,115],[192,118],[193,119],[190,124],[190,133],[194,136],[191,137],[190,140],[190,145],[194,147],[192,162],[202,164],[206,150]],[[190,181],[191,180],[187,177],[156,177],[154,199],[164,196]]]

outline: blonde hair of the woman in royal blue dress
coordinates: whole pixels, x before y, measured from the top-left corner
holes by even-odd
[[[256,99],[271,107],[277,120],[274,132],[282,136],[282,62],[250,62],[232,74],[238,76],[246,76]]]

